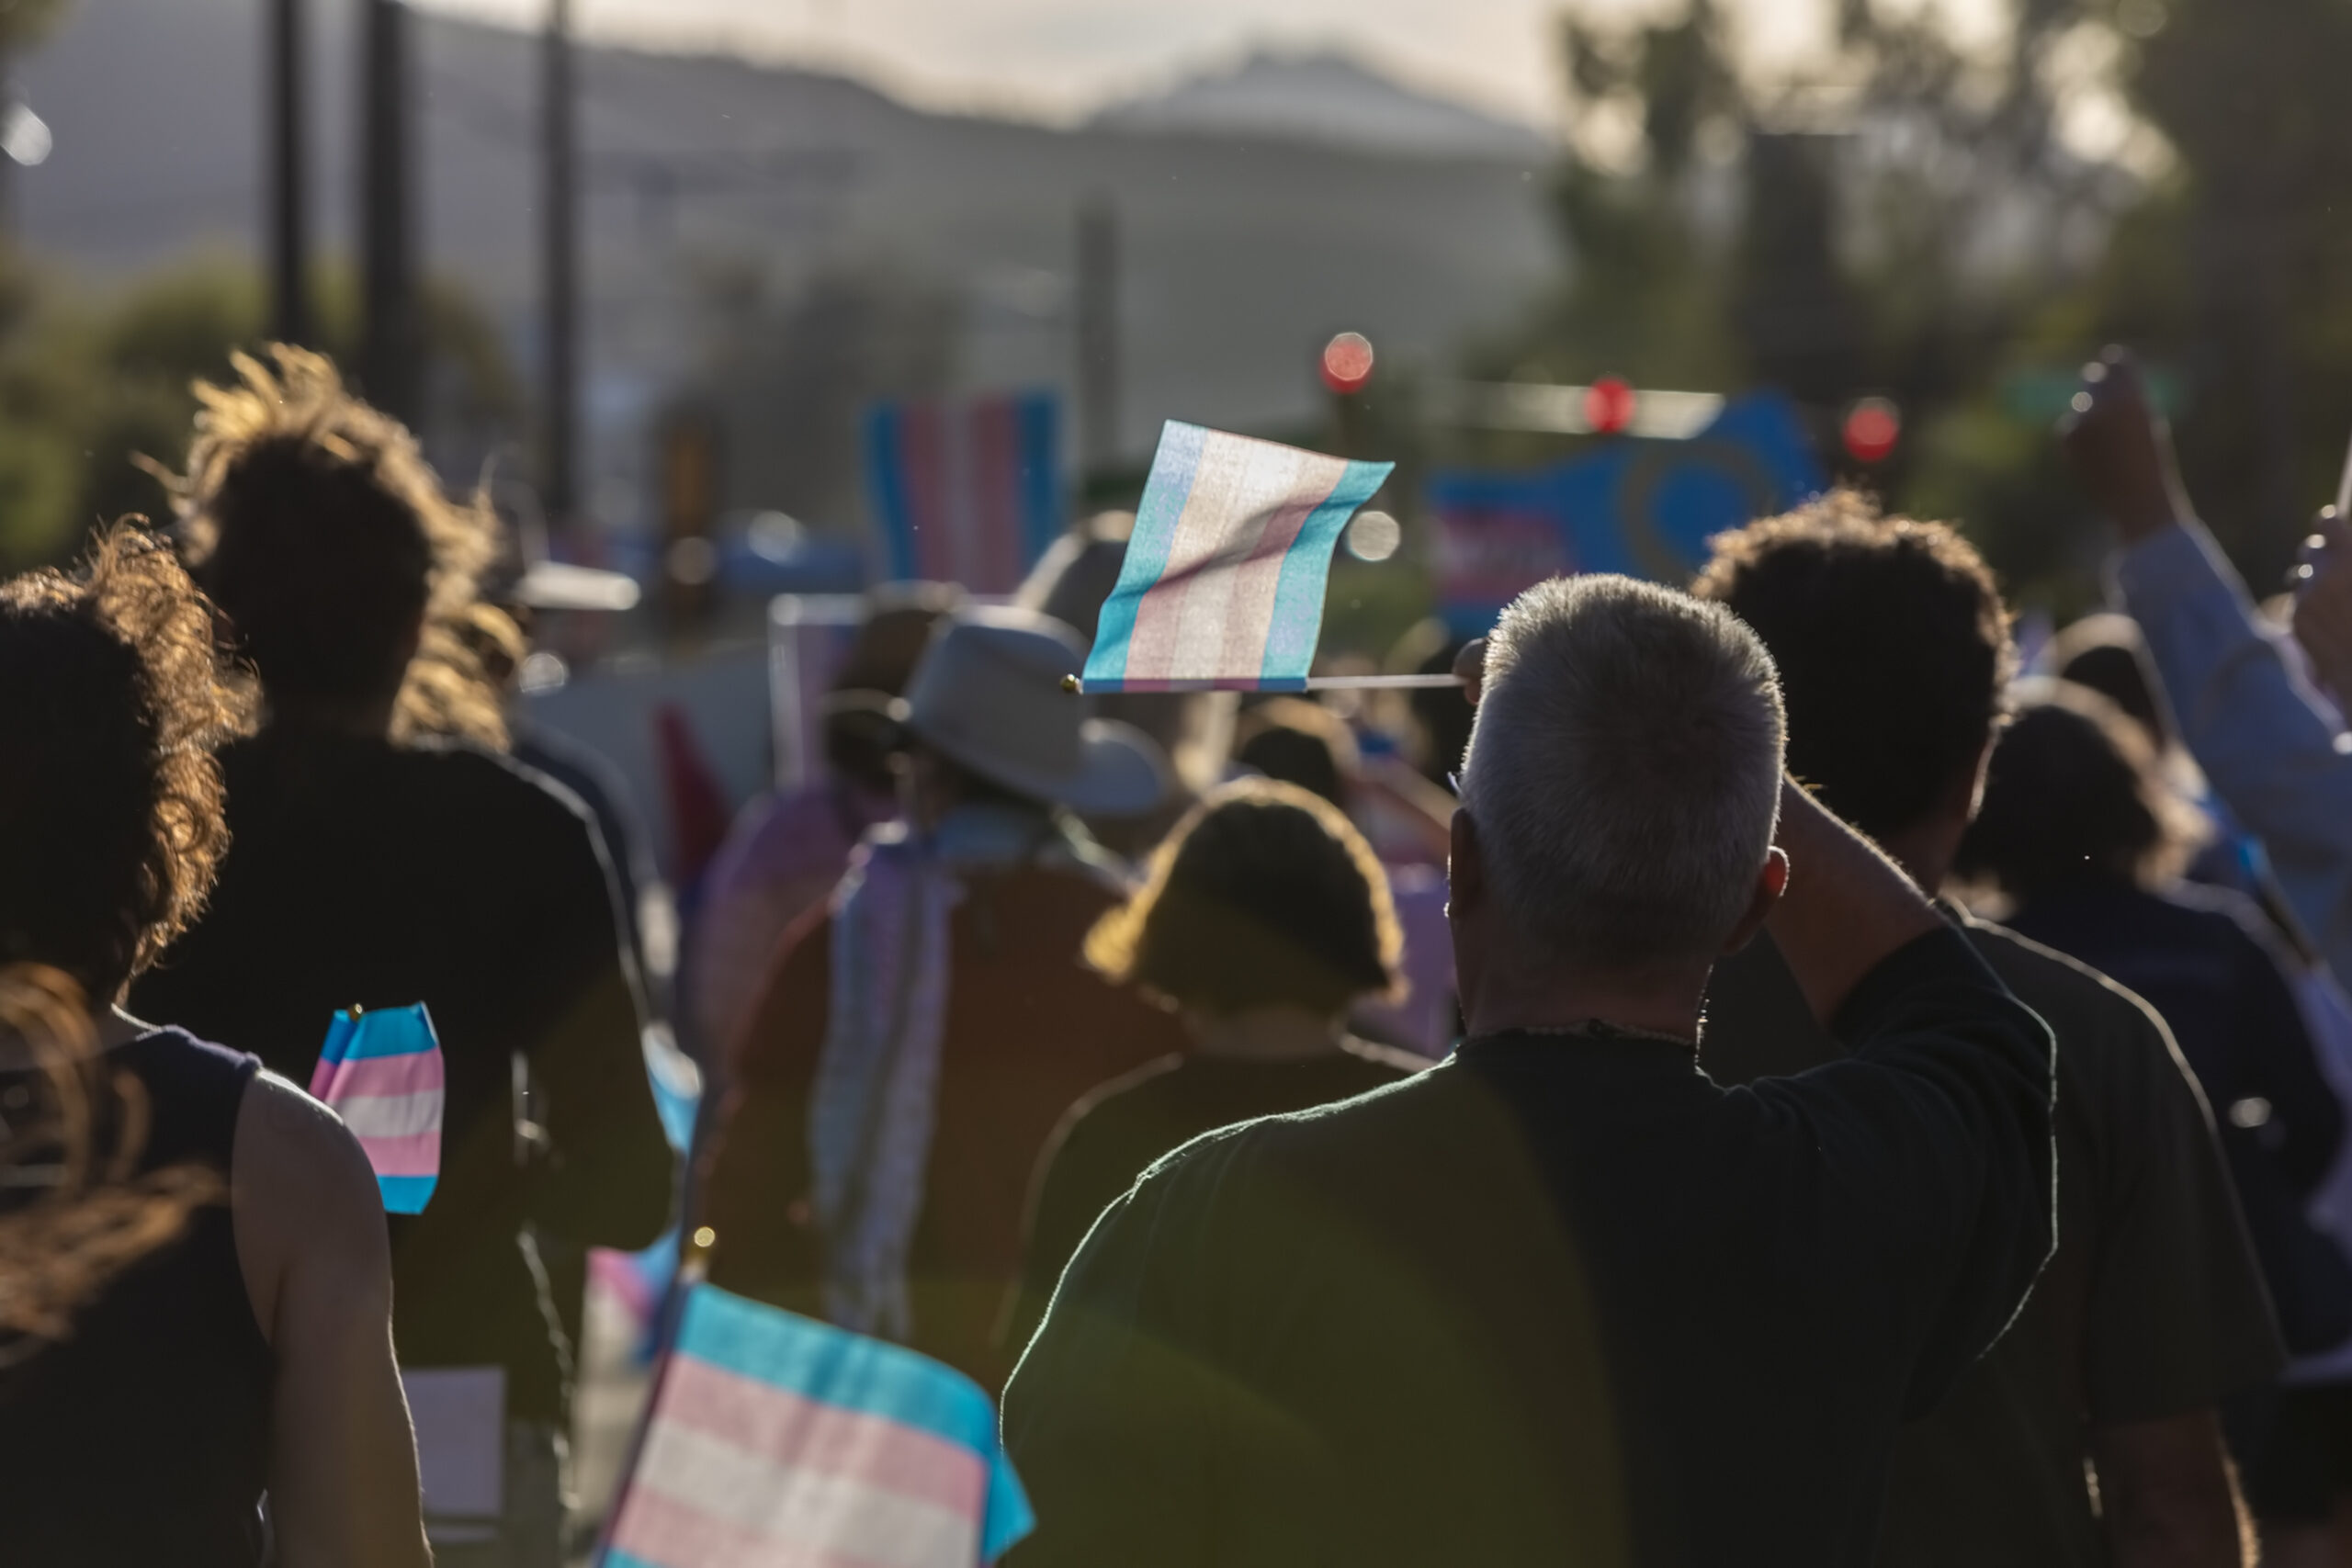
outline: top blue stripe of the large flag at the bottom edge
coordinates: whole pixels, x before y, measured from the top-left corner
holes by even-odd
[[[774,1389],[929,1432],[981,1458],[997,1450],[997,1413],[971,1378],[898,1345],[694,1286],[675,1354]]]

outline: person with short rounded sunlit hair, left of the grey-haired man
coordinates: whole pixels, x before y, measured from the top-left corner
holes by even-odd
[[[1348,1034],[1397,987],[1388,877],[1338,806],[1270,778],[1216,790],[1150,879],[1087,938],[1087,961],[1183,1013],[1192,1048],[1080,1100],[1037,1161],[1009,1340],[1037,1328],[1094,1218],[1162,1154],[1235,1121],[1331,1105],[1425,1060]]]

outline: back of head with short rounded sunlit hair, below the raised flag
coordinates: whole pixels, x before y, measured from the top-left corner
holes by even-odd
[[[1145,886],[1087,936],[1087,961],[1200,1013],[1338,1016],[1395,987],[1402,947],[1388,877],[1348,818],[1242,778],[1178,823]]]

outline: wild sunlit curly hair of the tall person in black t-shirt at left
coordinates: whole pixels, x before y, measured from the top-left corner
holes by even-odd
[[[480,654],[482,618],[499,616],[480,602],[499,550],[487,498],[452,501],[416,437],[346,393],[327,357],[287,343],[268,357],[235,355],[235,386],[198,383],[188,473],[167,482],[188,567],[270,705],[397,693],[395,741],[503,748]]]

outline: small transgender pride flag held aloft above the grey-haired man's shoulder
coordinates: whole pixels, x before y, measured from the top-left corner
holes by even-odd
[[[1087,691],[1303,691],[1331,550],[1395,463],[1160,433]]]

